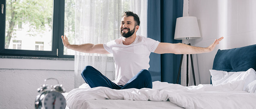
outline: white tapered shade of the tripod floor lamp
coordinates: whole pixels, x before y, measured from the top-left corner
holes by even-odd
[[[179,17],[176,20],[174,39],[201,38],[196,17]]]

